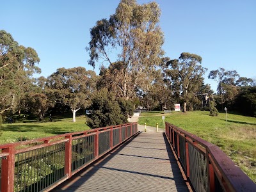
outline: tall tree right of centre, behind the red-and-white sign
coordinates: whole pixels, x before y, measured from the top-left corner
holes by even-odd
[[[193,110],[193,106],[198,103],[195,94],[200,93],[204,86],[203,75],[207,68],[200,65],[202,58],[196,54],[182,52],[179,60],[174,59],[166,63],[167,67],[164,71],[166,81],[170,81],[173,95],[177,102],[183,102],[183,111],[187,111],[187,104]]]

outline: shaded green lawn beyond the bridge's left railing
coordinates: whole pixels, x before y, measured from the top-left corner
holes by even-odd
[[[67,132],[76,132],[89,130],[84,115],[77,116],[76,122],[72,118],[52,118],[52,122],[44,120],[42,122],[26,121],[13,124],[2,124],[2,134],[0,136],[0,145],[3,143],[12,143],[20,140],[32,140],[35,138],[44,138],[56,134]]]

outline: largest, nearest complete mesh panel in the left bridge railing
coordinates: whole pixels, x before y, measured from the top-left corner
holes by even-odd
[[[14,191],[42,191],[65,177],[65,143],[15,155]]]

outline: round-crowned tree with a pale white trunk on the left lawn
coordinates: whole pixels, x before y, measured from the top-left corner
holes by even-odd
[[[73,121],[76,122],[76,112],[90,105],[90,95],[95,89],[96,81],[95,72],[87,71],[84,67],[58,68],[48,77],[45,91],[51,100],[70,107]]]

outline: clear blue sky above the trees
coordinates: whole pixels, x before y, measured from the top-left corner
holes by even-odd
[[[10,33],[25,47],[33,47],[40,57],[40,76],[57,68],[85,67],[89,55],[90,28],[97,20],[115,13],[119,0],[0,0],[0,29]],[[138,0],[139,4],[148,3]],[[156,0],[165,42],[163,49],[171,59],[181,52],[202,56],[210,70],[223,67],[237,70],[243,77],[256,77],[256,1],[255,0]],[[99,74],[99,67],[95,67]]]

